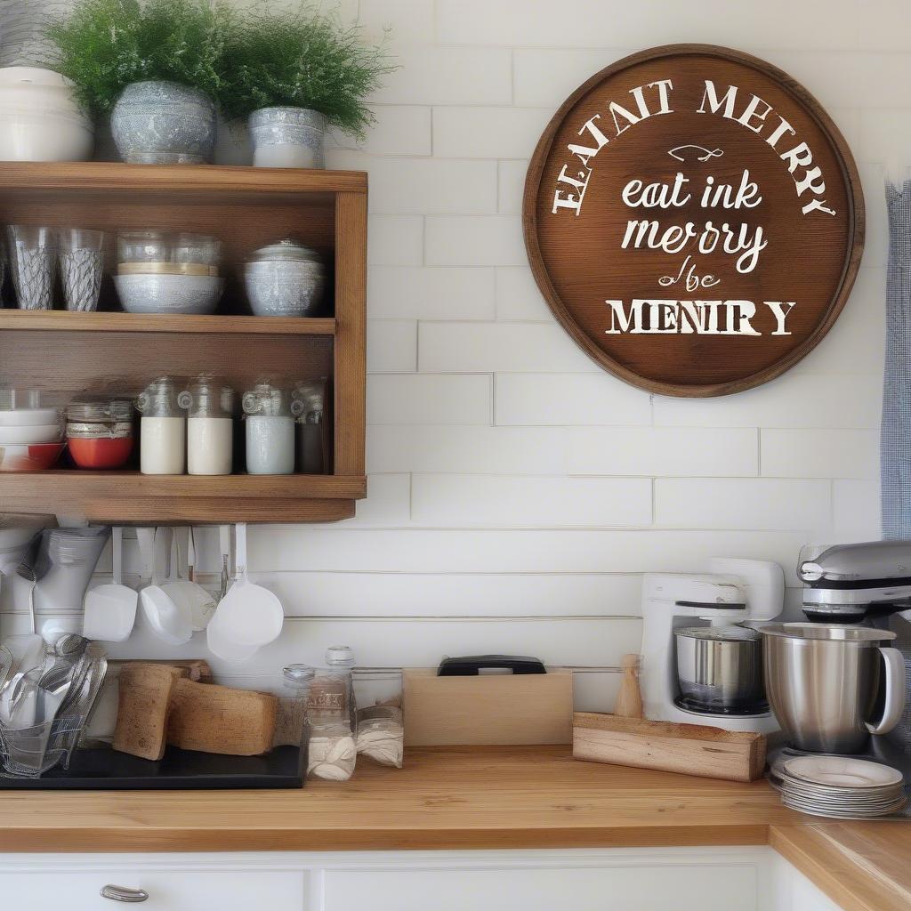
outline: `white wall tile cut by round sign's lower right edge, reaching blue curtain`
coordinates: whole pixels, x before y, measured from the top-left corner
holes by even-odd
[[[883,376],[879,363],[869,374],[807,374],[798,370],[736,395],[676,399],[656,395],[655,424],[706,427],[879,426]]]

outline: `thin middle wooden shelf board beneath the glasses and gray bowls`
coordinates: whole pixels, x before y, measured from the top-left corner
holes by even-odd
[[[333,335],[333,317],[193,316],[168,313],[71,313],[59,310],[0,310],[0,329],[46,332],[228,333],[246,335]]]

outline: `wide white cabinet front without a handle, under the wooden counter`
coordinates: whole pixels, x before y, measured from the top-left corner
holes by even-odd
[[[756,911],[753,865],[326,870],[323,911]]]

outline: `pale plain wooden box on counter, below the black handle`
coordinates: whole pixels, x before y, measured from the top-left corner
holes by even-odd
[[[404,670],[408,746],[569,743],[572,672],[437,677]]]

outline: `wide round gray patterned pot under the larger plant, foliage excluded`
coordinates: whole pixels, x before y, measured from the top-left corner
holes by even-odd
[[[215,105],[176,82],[134,82],[111,111],[120,157],[133,164],[201,164],[215,148]]]

